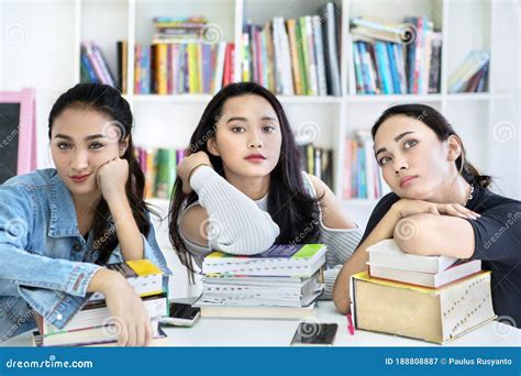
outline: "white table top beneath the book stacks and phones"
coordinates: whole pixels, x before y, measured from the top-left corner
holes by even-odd
[[[332,301],[320,301],[314,316],[320,322],[336,322],[335,346],[439,346],[434,343],[395,335],[356,331],[348,334],[346,318]],[[308,319],[307,319],[308,320]],[[192,328],[165,328],[171,346],[288,346],[299,320],[237,320],[202,318]],[[3,346],[31,345],[30,333],[21,334]],[[445,346],[520,346],[521,330],[489,322]]]

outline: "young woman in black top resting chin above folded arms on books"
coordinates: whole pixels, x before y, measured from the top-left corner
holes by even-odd
[[[381,198],[333,299],[350,310],[350,278],[367,268],[366,248],[393,237],[407,253],[481,259],[492,272],[496,313],[521,327],[521,202],[489,190],[465,158],[447,120],[423,104],[387,109],[372,129],[375,156],[392,192]]]

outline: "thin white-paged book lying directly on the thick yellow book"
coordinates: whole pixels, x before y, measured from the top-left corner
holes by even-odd
[[[369,274],[374,278],[402,281],[406,284],[440,288],[453,281],[481,272],[481,261],[458,262],[440,273],[400,270],[387,266],[370,265]]]

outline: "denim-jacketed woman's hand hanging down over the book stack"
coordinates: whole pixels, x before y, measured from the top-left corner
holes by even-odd
[[[112,324],[118,331],[118,345],[148,345],[153,335],[148,313],[126,279],[118,272],[102,268],[89,284],[89,290],[93,288],[106,297]]]

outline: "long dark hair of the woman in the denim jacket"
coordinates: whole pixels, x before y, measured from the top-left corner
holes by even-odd
[[[49,140],[54,120],[66,109],[70,108],[99,111],[112,119],[114,125],[119,126],[120,142],[125,136],[129,136],[129,145],[122,156],[122,158],[129,162],[129,179],[125,185],[126,198],[140,232],[145,236],[148,235],[151,223],[147,219],[147,212],[156,213],[148,208],[143,199],[145,176],[135,159],[131,132],[133,118],[129,102],[121,97],[117,89],[108,85],[78,84],[59,96],[54,103],[48,115]],[[99,251],[98,264],[106,264],[118,246],[118,235],[113,223],[109,221],[110,214],[109,206],[102,198],[96,208],[96,215],[91,228],[95,248]]]

